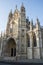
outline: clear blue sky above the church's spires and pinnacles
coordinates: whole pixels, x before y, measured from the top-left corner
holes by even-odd
[[[0,32],[6,29],[10,10],[14,12],[16,5],[20,10],[22,2],[26,9],[26,16],[30,20],[33,19],[34,23],[38,17],[40,24],[43,25],[43,0],[0,0]]]

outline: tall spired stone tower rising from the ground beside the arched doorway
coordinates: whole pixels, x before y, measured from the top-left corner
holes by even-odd
[[[26,15],[25,15],[25,7],[22,3],[20,9],[20,53],[21,58],[26,58]]]

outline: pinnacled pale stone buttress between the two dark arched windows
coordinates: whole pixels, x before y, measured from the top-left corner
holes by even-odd
[[[33,58],[33,20],[30,22],[30,47],[27,48],[27,57],[28,59]]]

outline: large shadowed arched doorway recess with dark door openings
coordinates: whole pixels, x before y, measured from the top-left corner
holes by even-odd
[[[13,38],[9,38],[7,40],[7,44],[5,47],[5,55],[9,57],[16,56],[16,42]]]

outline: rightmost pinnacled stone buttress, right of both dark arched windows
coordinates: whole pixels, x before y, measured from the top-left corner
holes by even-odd
[[[41,46],[41,38],[40,38],[40,23],[39,19],[36,20],[36,41],[37,46],[34,47],[34,59],[40,59],[40,46]]]

